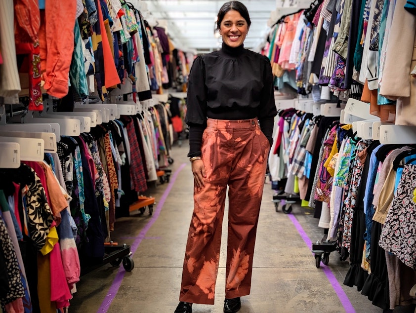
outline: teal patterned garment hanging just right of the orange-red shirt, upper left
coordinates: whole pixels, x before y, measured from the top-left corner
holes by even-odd
[[[69,80],[71,86],[74,87],[78,95],[84,99],[88,96],[88,84],[86,82],[84,65],[85,58],[83,44],[81,42],[82,38],[80,25],[78,24],[78,20],[75,21],[74,34],[75,46],[74,52],[72,54],[71,67],[69,69]]]

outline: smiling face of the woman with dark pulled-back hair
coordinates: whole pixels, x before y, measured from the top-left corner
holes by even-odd
[[[248,32],[247,21],[238,11],[230,10],[225,13],[219,28],[219,33],[225,44],[233,48],[240,46],[246,39]]]

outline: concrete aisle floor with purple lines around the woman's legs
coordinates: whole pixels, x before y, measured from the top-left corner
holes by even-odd
[[[172,176],[169,184],[151,188],[155,196],[153,216],[133,212],[118,219],[112,239],[132,245],[135,268],[105,265],[81,277],[69,312],[171,313],[179,297],[183,257],[192,215],[193,178],[187,160],[187,142],[173,147]],[[251,294],[242,298],[241,313],[274,312],[382,312],[356,288],[342,285],[348,262],[337,252],[328,267],[315,267],[315,259],[304,239],[315,242],[323,236],[313,211],[294,206],[292,214],[276,212],[271,202],[270,184],[264,187],[257,232]],[[298,222],[303,238],[294,227]],[[225,285],[226,225],[221,247],[216,302],[213,306],[194,305],[193,312],[223,312]],[[330,277],[330,278],[328,278]],[[332,278],[331,278],[332,277]],[[333,284],[338,285],[338,293]],[[119,288],[118,288],[119,287]],[[336,288],[335,288],[336,289]],[[340,295],[340,298],[338,297]],[[342,300],[342,301],[341,301]]]

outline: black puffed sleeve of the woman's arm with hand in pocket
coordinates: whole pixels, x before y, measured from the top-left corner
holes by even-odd
[[[272,66],[267,57],[263,56],[263,90],[261,92],[260,107],[258,112],[258,120],[263,134],[270,142],[273,143],[273,124],[274,117],[277,115],[276,104],[274,101],[273,91],[273,74]]]

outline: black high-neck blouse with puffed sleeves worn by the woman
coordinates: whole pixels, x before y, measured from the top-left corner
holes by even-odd
[[[250,119],[257,117],[261,131],[273,142],[277,115],[270,60],[244,48],[222,44],[222,49],[195,59],[189,74],[186,123],[189,157],[201,155],[207,117]]]

